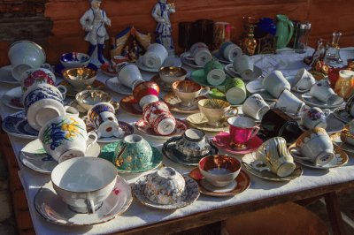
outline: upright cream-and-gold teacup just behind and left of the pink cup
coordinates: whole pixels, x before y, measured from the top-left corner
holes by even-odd
[[[216,99],[204,99],[198,102],[199,110],[208,119],[208,125],[219,126],[227,117],[237,116],[237,108],[231,109],[229,102]]]

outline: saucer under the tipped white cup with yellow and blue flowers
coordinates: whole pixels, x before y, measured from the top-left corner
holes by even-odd
[[[97,157],[100,155],[100,151],[100,146],[95,143],[86,150],[85,155]],[[43,174],[50,174],[58,165],[58,162],[45,152],[39,139],[29,142],[21,149],[19,162],[29,169]]]

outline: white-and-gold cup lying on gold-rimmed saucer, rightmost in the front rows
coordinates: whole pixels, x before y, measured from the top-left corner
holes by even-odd
[[[314,128],[303,133],[289,147],[296,163],[314,169],[335,168],[348,163],[348,155],[338,146],[323,128]]]

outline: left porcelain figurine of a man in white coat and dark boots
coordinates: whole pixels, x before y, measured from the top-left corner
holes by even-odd
[[[105,26],[111,27],[104,10],[100,9],[102,0],[89,0],[91,8],[81,17],[80,23],[85,30],[85,41],[89,42],[89,56],[91,63],[101,65],[106,62],[104,58],[104,41],[109,39]]]

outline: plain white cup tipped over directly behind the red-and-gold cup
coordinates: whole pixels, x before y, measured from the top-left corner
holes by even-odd
[[[142,82],[142,73],[135,64],[127,64],[118,73],[118,80],[126,87],[133,88],[135,84]]]

